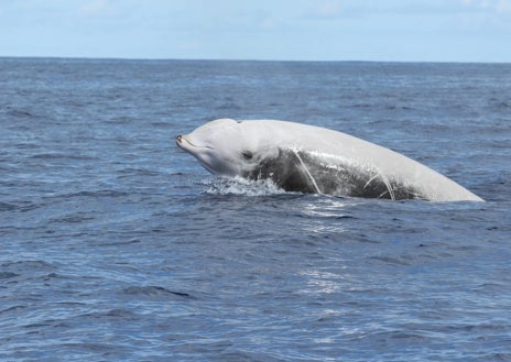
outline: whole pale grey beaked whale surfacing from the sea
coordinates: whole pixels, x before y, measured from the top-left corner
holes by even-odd
[[[398,152],[316,125],[218,119],[176,136],[210,173],[269,179],[285,191],[378,199],[483,201]]]

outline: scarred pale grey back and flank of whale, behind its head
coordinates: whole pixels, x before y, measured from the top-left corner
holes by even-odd
[[[389,199],[481,200],[463,186],[392,150],[301,123],[243,121],[246,133],[270,135],[279,154],[248,177],[272,178],[287,190]],[[267,141],[268,142],[268,141]]]

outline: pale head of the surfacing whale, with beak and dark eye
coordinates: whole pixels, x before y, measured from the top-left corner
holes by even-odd
[[[251,132],[244,122],[219,119],[178,135],[176,144],[213,174],[244,176],[262,158],[278,153],[268,142],[269,138],[264,131]]]

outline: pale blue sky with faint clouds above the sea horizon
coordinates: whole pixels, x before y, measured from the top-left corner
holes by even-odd
[[[0,56],[511,63],[511,0],[0,0]]]

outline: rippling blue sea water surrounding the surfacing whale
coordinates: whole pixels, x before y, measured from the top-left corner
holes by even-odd
[[[486,202],[283,193],[174,143],[282,119]],[[511,361],[511,65],[0,58],[1,361]]]

